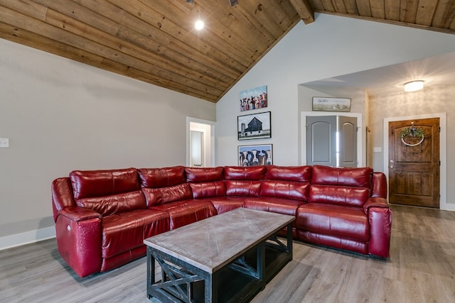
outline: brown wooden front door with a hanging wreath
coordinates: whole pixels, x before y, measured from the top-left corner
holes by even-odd
[[[410,127],[421,129],[423,140],[401,138]],[[439,131],[439,118],[389,123],[390,203],[439,208]]]

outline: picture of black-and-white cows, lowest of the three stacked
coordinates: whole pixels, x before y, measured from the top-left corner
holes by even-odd
[[[272,144],[239,145],[239,166],[272,165]]]

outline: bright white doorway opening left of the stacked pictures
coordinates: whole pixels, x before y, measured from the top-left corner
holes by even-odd
[[[215,122],[186,117],[186,166],[215,166]]]

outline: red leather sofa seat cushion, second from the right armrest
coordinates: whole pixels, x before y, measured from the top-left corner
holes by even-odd
[[[305,202],[301,200],[273,198],[273,197],[258,197],[247,198],[243,202],[243,207],[246,209],[256,209],[259,211],[271,211],[278,214],[287,214],[296,216],[297,209]],[[296,221],[292,222],[292,226],[296,226]]]

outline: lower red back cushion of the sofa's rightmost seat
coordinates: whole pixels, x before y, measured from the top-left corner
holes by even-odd
[[[312,184],[309,191],[309,203],[363,207],[368,197],[370,197],[370,189],[365,187]]]

